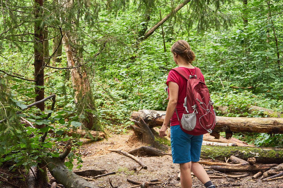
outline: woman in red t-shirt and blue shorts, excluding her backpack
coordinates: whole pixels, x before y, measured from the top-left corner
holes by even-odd
[[[178,40],[171,47],[173,59],[187,75],[195,75],[195,67],[191,65],[195,59],[195,54],[191,51],[190,45],[185,40]],[[200,80],[204,82],[201,74]],[[173,163],[180,164],[180,179],[182,188],[191,188],[191,171],[204,184],[206,188],[215,188],[210,181],[203,166],[197,163],[200,157],[200,151],[203,141],[203,135],[193,136],[184,133],[178,122],[175,109],[179,118],[182,118],[184,112],[184,99],[186,97],[186,80],[176,71],[169,71],[166,85],[169,86],[169,102],[166,115],[159,136],[166,136],[166,129],[171,119],[171,151]],[[172,117],[173,116],[173,117]]]

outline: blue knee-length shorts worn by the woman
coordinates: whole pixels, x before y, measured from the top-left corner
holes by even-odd
[[[184,133],[180,125],[170,127],[171,152],[173,163],[188,163],[199,161],[203,135],[193,136]]]

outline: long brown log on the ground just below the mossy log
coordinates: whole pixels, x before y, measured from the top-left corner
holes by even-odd
[[[219,172],[251,172],[269,170],[277,164],[264,164],[264,165],[241,165],[241,166],[210,166],[210,169]]]

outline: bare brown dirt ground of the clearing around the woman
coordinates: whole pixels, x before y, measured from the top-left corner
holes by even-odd
[[[111,188],[109,178],[112,180],[113,186],[116,188],[127,188],[132,186],[127,179],[139,182],[149,182],[158,179],[167,184],[160,184],[151,187],[180,187],[180,180],[176,180],[179,170],[178,164],[173,164],[170,155],[163,157],[139,157],[142,162],[147,165],[147,170],[140,170],[140,166],[136,161],[116,152],[110,152],[107,149],[120,149],[130,151],[141,147],[143,144],[139,140],[132,139],[132,131],[126,134],[110,134],[109,138],[97,142],[85,141],[80,150],[82,154],[82,168],[80,170],[107,170],[107,172],[115,171],[115,175],[108,175],[92,181],[93,184],[101,188]],[[129,139],[130,138],[130,139]],[[168,150],[171,153],[171,150]],[[137,167],[137,171],[134,168]],[[74,166],[73,170],[76,168]],[[169,180],[168,180],[169,179]],[[212,179],[217,188],[235,187],[235,188],[279,188],[283,186],[283,180],[273,180],[262,182],[260,179],[252,180],[251,175],[241,179]],[[202,188],[204,185],[192,176],[192,187]]]

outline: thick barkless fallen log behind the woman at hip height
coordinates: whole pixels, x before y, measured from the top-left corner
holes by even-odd
[[[150,128],[162,126],[165,111],[139,110],[132,112],[131,118],[142,118]],[[217,116],[214,131],[249,132],[249,133],[283,133],[283,118],[234,118]]]

